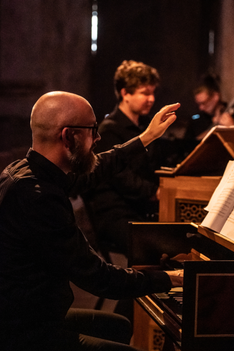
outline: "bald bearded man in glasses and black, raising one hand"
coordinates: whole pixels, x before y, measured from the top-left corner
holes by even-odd
[[[43,95],[31,116],[33,148],[0,176],[0,350],[135,350],[126,318],[69,310],[69,281],[97,296],[134,298],[182,284],[182,272],[106,264],[76,226],[70,192],[96,186],[160,137],[179,104],[166,106],[139,137],[95,156],[90,104]],[[178,275],[177,275],[178,274]]]

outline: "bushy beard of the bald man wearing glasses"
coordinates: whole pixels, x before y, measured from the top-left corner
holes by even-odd
[[[83,145],[79,141],[76,142],[76,146],[71,151],[71,156],[69,157],[73,173],[78,173],[82,176],[94,172],[98,164],[97,156],[93,153],[94,147],[95,144],[86,152]]]

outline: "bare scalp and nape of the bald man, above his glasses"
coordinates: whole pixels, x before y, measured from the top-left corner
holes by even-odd
[[[94,118],[94,113],[84,98],[59,91],[45,94],[39,98],[32,110],[33,143],[57,143],[64,127],[87,125],[90,123],[89,118]]]

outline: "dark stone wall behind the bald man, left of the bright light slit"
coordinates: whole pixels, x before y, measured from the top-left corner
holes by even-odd
[[[89,0],[0,0],[0,170],[31,146],[41,95],[90,99],[91,15]]]

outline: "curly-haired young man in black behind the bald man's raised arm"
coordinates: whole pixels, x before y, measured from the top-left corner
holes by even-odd
[[[99,126],[101,140],[96,153],[105,152],[139,136],[148,126],[149,114],[159,85],[155,68],[142,62],[125,60],[114,78],[117,106]],[[147,156],[133,157],[131,164],[95,191],[83,195],[98,243],[108,243],[127,254],[128,222],[156,219],[158,179],[154,174],[162,163],[160,142],[147,147]]]

